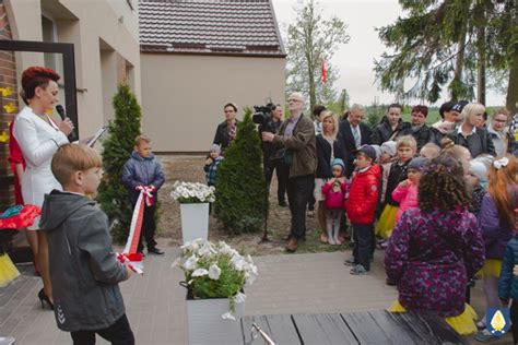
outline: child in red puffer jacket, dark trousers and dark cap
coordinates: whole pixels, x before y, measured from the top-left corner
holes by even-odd
[[[378,201],[381,170],[374,163],[376,151],[370,145],[362,146],[356,153],[356,171],[351,180],[345,212],[353,229],[353,258],[345,263],[352,265],[351,274],[367,274],[373,252],[374,221]]]

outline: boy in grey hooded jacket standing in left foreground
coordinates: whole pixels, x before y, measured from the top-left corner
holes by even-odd
[[[96,333],[134,344],[118,286],[131,271],[116,259],[106,214],[86,197],[97,191],[101,158],[90,147],[67,144],[51,169],[63,191],[45,195],[39,225],[47,234],[58,328],[71,332],[74,344],[95,344]]]

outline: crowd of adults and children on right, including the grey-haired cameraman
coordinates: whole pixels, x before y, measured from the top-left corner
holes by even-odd
[[[305,240],[305,217],[316,202],[320,240],[341,245],[350,237],[354,246],[344,262],[351,274],[368,274],[375,248],[385,250],[387,284],[399,290],[390,310],[432,311],[459,333],[491,341],[490,320],[475,323],[467,304],[471,282],[482,278],[486,307],[509,306],[518,324],[518,302],[509,305],[518,298],[518,147],[507,109],[487,116],[481,104],[447,102],[428,126],[426,106],[412,107],[405,122],[403,107],[391,104],[372,130],[362,105],[341,118],[317,106],[311,123],[302,94],[287,102],[289,117],[261,131],[269,157],[291,156],[280,180],[291,211],[287,251]]]

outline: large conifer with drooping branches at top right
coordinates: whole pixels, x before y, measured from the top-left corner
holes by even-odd
[[[473,99],[479,81],[479,100],[484,102],[486,71],[508,69],[511,85],[518,50],[516,0],[399,2],[407,16],[379,29],[393,50],[375,62],[381,88],[402,100],[436,102],[444,90],[451,98]],[[409,80],[413,85],[407,87]]]

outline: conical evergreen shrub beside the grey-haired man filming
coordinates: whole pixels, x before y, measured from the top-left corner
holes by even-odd
[[[232,233],[260,229],[267,212],[268,192],[262,171],[261,140],[251,110],[237,124],[236,139],[217,170],[215,215]]]

